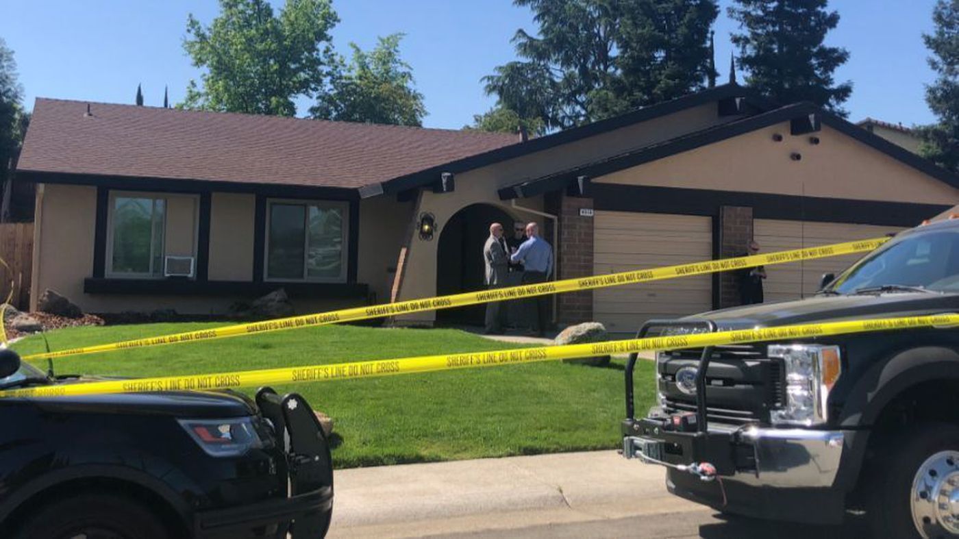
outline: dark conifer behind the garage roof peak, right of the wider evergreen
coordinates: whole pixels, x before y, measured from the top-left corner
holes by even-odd
[[[823,44],[839,24],[827,7],[828,0],[735,0],[729,16],[743,30],[732,37],[746,83],[780,103],[811,101],[845,116],[853,84],[832,75],[849,52]]]

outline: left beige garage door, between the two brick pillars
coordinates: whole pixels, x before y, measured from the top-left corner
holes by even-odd
[[[709,217],[597,210],[594,219],[597,275],[713,258]],[[593,316],[611,332],[633,333],[648,318],[692,315],[712,307],[709,275],[593,292]]]

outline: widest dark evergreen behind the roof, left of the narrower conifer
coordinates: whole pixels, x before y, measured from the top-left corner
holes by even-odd
[[[513,36],[520,59],[483,78],[521,118],[566,129],[690,93],[711,72],[714,0],[514,0],[536,35]]]

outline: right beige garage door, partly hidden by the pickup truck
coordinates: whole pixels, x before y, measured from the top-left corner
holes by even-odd
[[[760,243],[760,252],[824,246],[855,240],[879,238],[901,227],[850,223],[804,223],[757,219],[753,222],[753,237]],[[819,290],[823,273],[838,274],[849,268],[862,253],[821,258],[806,262],[783,264],[766,268],[765,300],[786,301],[812,295]]]

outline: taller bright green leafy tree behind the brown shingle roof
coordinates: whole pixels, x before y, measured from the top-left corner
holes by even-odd
[[[178,106],[292,116],[323,87],[338,22],[330,0],[287,0],[278,16],[266,0],[220,0],[208,27],[191,14],[183,48],[205,72]]]

